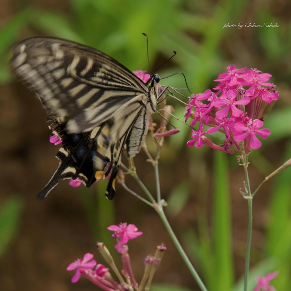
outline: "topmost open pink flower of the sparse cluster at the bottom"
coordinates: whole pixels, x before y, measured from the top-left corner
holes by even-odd
[[[117,239],[118,244],[115,245],[115,248],[118,252],[121,252],[121,246],[127,244],[129,240],[135,239],[138,236],[142,235],[142,231],[138,231],[138,228],[127,223],[120,223],[118,226],[108,226],[107,229],[114,231],[113,237]]]

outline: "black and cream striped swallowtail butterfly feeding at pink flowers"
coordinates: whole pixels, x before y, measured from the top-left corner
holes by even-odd
[[[62,140],[59,167],[38,198],[45,198],[59,179],[78,178],[90,187],[108,165],[106,197],[113,199],[122,151],[126,146],[129,157],[140,151],[163,94],[160,76],[152,73],[144,83],[97,49],[46,37],[17,43],[11,63],[46,109],[52,134]]]

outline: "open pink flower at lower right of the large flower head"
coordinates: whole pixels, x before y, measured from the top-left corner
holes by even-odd
[[[253,149],[258,149],[261,146],[261,142],[256,137],[256,134],[263,139],[266,139],[268,135],[271,134],[270,129],[259,129],[263,125],[264,123],[259,119],[249,122],[247,127],[242,122],[237,123],[235,125],[235,129],[237,130],[237,132],[235,132],[235,140],[237,142],[242,142],[249,136],[250,147]]]

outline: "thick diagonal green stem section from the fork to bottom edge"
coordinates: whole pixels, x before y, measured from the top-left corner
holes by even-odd
[[[179,243],[173,229],[171,228],[166,216],[165,216],[165,213],[162,209],[162,206],[158,206],[158,207],[155,207],[155,209],[157,210],[158,214],[160,215],[161,219],[162,219],[162,222],[164,224],[164,226],[166,227],[172,241],[174,242],[175,246],[177,247],[178,249],[178,252],[180,253],[182,259],[184,260],[186,266],[188,267],[188,269],[190,270],[191,274],[193,275],[194,279],[196,280],[197,284],[199,285],[199,287],[201,288],[202,291],[207,291],[205,285],[203,284],[202,280],[200,279],[199,275],[197,274],[197,272],[195,271],[192,263],[190,262],[190,260],[188,259],[186,253],[184,252],[181,244]]]

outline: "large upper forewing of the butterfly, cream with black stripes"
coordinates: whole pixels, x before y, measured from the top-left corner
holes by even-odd
[[[106,54],[65,40],[35,37],[13,49],[12,67],[69,133],[93,130],[146,85]]]

